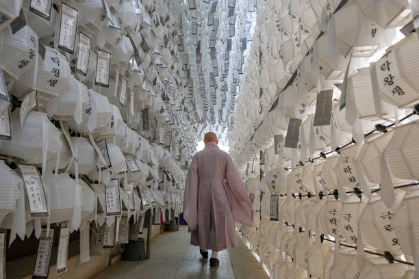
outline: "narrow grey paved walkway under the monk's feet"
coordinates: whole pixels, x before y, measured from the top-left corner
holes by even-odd
[[[242,240],[238,239],[238,247],[218,254],[219,267],[210,267],[210,261],[201,258],[199,248],[190,246],[189,237],[186,226],[181,226],[179,232],[163,233],[153,240],[150,260],[138,262],[121,260],[94,278],[268,278]],[[209,254],[211,255],[211,252]]]

